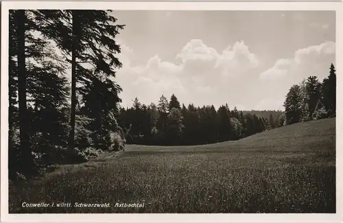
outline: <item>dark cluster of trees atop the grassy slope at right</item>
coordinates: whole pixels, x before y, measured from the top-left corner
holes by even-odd
[[[294,84],[285,99],[285,125],[336,115],[336,73],[331,64],[330,73],[322,82],[309,76]]]

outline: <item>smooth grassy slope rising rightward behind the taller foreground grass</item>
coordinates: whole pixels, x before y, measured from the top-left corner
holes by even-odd
[[[239,141],[209,145],[150,146],[127,145],[126,152],[329,152],[335,155],[335,118],[320,119],[275,128]]]

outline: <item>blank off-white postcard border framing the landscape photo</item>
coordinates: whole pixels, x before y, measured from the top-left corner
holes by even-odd
[[[1,221],[6,222],[342,222],[342,2],[3,1],[1,3]],[[332,214],[8,214],[8,10],[333,10],[336,12],[336,211]]]

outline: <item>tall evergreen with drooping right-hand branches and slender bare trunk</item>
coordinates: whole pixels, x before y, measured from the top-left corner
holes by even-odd
[[[64,55],[71,55],[67,58],[71,62],[70,149],[74,148],[77,84],[92,82],[95,77],[113,86],[113,94],[121,91],[110,78],[115,77],[115,69],[121,67],[115,57],[120,53],[115,36],[124,26],[115,25],[117,19],[110,16],[110,12],[112,10],[35,11],[39,31],[54,40]],[[93,69],[86,69],[83,64],[91,64]]]

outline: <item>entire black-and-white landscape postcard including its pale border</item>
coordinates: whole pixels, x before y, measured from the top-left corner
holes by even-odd
[[[92,4],[2,10],[9,215],[336,213],[334,7]]]

